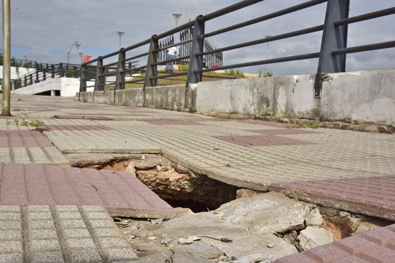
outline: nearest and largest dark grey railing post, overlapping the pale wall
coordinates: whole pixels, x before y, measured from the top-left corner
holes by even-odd
[[[346,55],[332,55],[332,50],[347,47],[347,25],[334,26],[334,21],[348,17],[350,0],[328,0],[322,33],[314,95],[321,96],[321,74],[346,71]]]

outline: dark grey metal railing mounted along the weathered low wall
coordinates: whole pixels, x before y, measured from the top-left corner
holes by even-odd
[[[318,58],[318,70],[315,75],[315,84],[314,84],[314,95],[319,97],[321,95],[321,75],[323,73],[334,73],[334,72],[344,72],[346,65],[346,54],[353,52],[362,52],[376,49],[385,49],[385,48],[393,48],[395,47],[395,41],[376,43],[358,47],[348,47],[347,48],[347,29],[348,24],[357,23],[360,21],[365,21],[367,19],[373,19],[385,15],[390,15],[395,13],[395,7],[379,10],[371,13],[361,14],[353,17],[348,17],[349,13],[349,0],[310,0],[302,4],[294,5],[283,10],[279,10],[270,14],[266,14],[260,17],[256,17],[250,19],[246,22],[235,24],[232,26],[228,26],[225,28],[221,28],[212,32],[205,32],[205,23],[207,21],[211,21],[217,17],[232,13],[233,11],[257,4],[262,2],[263,0],[244,0],[239,3],[230,5],[226,8],[214,11],[207,15],[200,15],[196,17],[194,21],[176,27],[167,32],[161,33],[159,35],[153,35],[151,38],[146,39],[140,43],[132,45],[127,48],[122,48],[118,51],[112,52],[110,54],[100,56],[96,59],[91,60],[90,62],[82,65],[82,75],[81,75],[81,86],[80,91],[86,91],[86,74],[89,72],[88,65],[95,64],[96,74],[95,74],[95,85],[94,91],[103,90],[106,82],[106,76],[110,75],[107,73],[106,68],[108,66],[115,66],[116,72],[114,71],[112,74],[116,75],[115,80],[115,89],[125,89],[125,84],[127,83],[139,83],[143,86],[144,91],[145,87],[153,87],[158,86],[159,79],[177,79],[177,76],[186,75],[186,84],[188,88],[189,83],[198,83],[201,82],[204,73],[216,70],[227,70],[234,68],[242,68],[242,67],[250,67],[257,65],[267,65],[273,63],[282,63],[282,62],[290,62],[294,60],[302,60],[302,59],[311,59]],[[297,31],[291,31],[283,34],[278,34],[274,36],[268,36],[265,38],[254,39],[249,42],[244,42],[236,45],[231,45],[222,48],[205,48],[205,39],[207,37],[220,35],[235,29],[247,27],[256,23],[268,21],[269,19],[279,17],[285,14],[293,13],[295,11],[303,10],[306,8],[310,8],[322,3],[326,4],[326,13],[324,24],[300,29]],[[192,35],[191,38],[184,38],[179,43],[171,43],[167,46],[159,46],[160,39],[168,37],[176,32],[183,32],[185,30],[191,29]],[[285,57],[278,58],[270,58],[264,60],[256,60],[247,63],[239,63],[232,65],[221,65],[220,67],[215,68],[205,68],[204,67],[204,57],[210,54],[218,54],[225,51],[235,50],[239,48],[250,47],[253,45],[269,43],[272,41],[277,41],[280,39],[287,39],[294,36],[301,36],[313,32],[322,31],[322,39],[321,39],[321,49],[318,52],[311,52],[306,54],[297,54]],[[185,46],[188,44],[188,46]],[[184,45],[184,46],[183,46]],[[165,59],[160,60],[158,56],[158,52],[161,52],[169,47],[173,46],[181,46],[181,55],[175,57],[174,59]],[[187,47],[188,52],[183,51]],[[141,53],[142,50],[145,52]],[[148,50],[148,52],[147,52]],[[130,54],[134,51],[137,54]],[[128,54],[127,54],[128,52]],[[222,54],[222,53],[221,53]],[[135,59],[139,57],[143,57],[148,55],[147,64],[141,67],[137,67],[134,69],[125,69],[125,63],[130,59]],[[118,62],[112,64],[104,64],[104,59],[118,56]],[[129,57],[131,56],[131,57]],[[129,58],[128,58],[129,57]],[[164,63],[169,62],[179,62],[184,61],[188,63],[188,71],[187,72],[178,72],[174,74],[168,74],[166,72],[161,72],[157,70],[158,65],[162,65]],[[145,73],[145,76],[135,77],[130,81],[125,81],[125,73],[137,73],[142,72]]]

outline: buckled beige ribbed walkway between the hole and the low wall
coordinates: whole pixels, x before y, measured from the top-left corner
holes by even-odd
[[[45,96],[13,96],[12,106],[13,119],[0,119],[3,134],[24,138],[22,131],[27,127],[16,124],[15,119],[39,118],[45,124],[39,128],[45,130],[43,134],[56,147],[38,146],[55,149],[57,156],[61,156],[59,152],[161,153],[194,172],[238,187],[261,191],[271,187],[314,203],[332,202],[340,204],[338,208],[395,219],[395,202],[383,200],[379,193],[383,185],[392,184],[395,176],[394,134],[289,129],[261,120],[224,121],[200,114],[87,104]],[[54,115],[71,119],[56,119]],[[74,119],[75,116],[81,118]],[[109,119],[89,119],[90,116]],[[11,133],[12,130],[19,132]],[[12,148],[13,145],[21,146],[10,140],[0,149],[31,149],[28,145]],[[29,146],[32,145],[33,141]],[[3,161],[26,158],[26,151],[3,157]],[[39,158],[29,156],[27,163],[41,163]],[[48,154],[45,156],[50,160]],[[364,179],[357,178],[380,183],[365,184],[361,183]],[[348,188],[342,187],[344,182]],[[392,196],[392,189],[386,189],[387,196]],[[361,201],[354,198],[358,195],[377,198]],[[375,209],[366,210],[369,206]]]

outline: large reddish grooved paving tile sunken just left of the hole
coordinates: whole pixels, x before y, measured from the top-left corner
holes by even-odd
[[[0,205],[101,205],[112,216],[165,217],[174,209],[128,172],[0,163]]]

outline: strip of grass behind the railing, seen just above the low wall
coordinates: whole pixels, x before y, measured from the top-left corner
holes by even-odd
[[[186,71],[177,71],[174,70],[174,73],[180,73],[180,72],[186,72]],[[165,73],[159,73],[160,76],[166,75]],[[242,74],[232,74],[231,72],[226,72],[226,73],[219,73],[219,72],[205,72],[203,74],[203,81],[214,81],[214,80],[224,80],[225,78],[218,78],[218,77],[230,77],[230,78],[245,78]],[[145,76],[145,73],[142,73],[141,76]],[[211,77],[212,76],[212,77]],[[187,81],[187,76],[175,76],[171,77],[172,79],[159,79],[159,86],[162,85],[180,85],[180,84],[186,84]],[[139,78],[133,78],[131,77],[129,80],[136,80]],[[176,79],[176,80],[175,80]],[[134,89],[134,88],[142,88],[143,83],[126,83],[125,84],[125,89]]]

